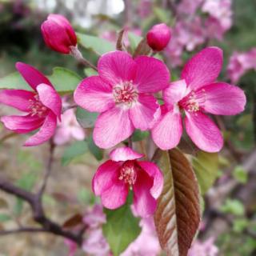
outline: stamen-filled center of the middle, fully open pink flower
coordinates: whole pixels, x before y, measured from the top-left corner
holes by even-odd
[[[117,104],[125,103],[131,105],[138,99],[138,91],[135,89],[132,81],[121,82],[114,86],[113,94]]]

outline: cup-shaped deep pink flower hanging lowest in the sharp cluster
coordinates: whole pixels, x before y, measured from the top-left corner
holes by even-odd
[[[113,150],[110,160],[98,167],[93,190],[101,196],[103,206],[109,209],[122,206],[129,189],[133,189],[136,212],[142,217],[154,214],[156,199],[162,192],[162,172],[153,162],[137,160],[142,157],[128,147],[122,147]]]

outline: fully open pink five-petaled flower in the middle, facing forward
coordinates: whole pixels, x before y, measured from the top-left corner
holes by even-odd
[[[156,72],[158,70],[158,72]],[[110,148],[128,138],[135,128],[148,130],[158,117],[153,93],[168,86],[170,73],[158,59],[114,51],[98,61],[98,76],[84,79],[74,91],[82,108],[100,112],[94,142]]]

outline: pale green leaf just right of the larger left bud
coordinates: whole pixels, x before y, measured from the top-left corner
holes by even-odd
[[[76,33],[78,43],[89,50],[93,50],[96,54],[102,55],[109,51],[115,50],[114,44],[103,38],[98,38],[93,35]]]

